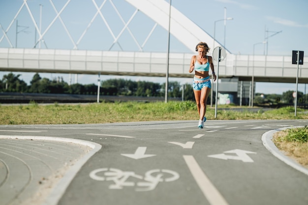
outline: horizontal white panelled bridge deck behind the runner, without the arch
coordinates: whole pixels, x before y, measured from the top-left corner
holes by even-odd
[[[189,78],[193,53],[169,54],[169,77]],[[57,49],[0,48],[0,70],[164,77],[167,53],[90,51]],[[308,57],[299,65],[299,83],[308,83]],[[214,61],[217,72],[217,62]],[[252,56],[227,54],[219,62],[219,78],[239,81],[295,83],[297,65],[290,56]]]

